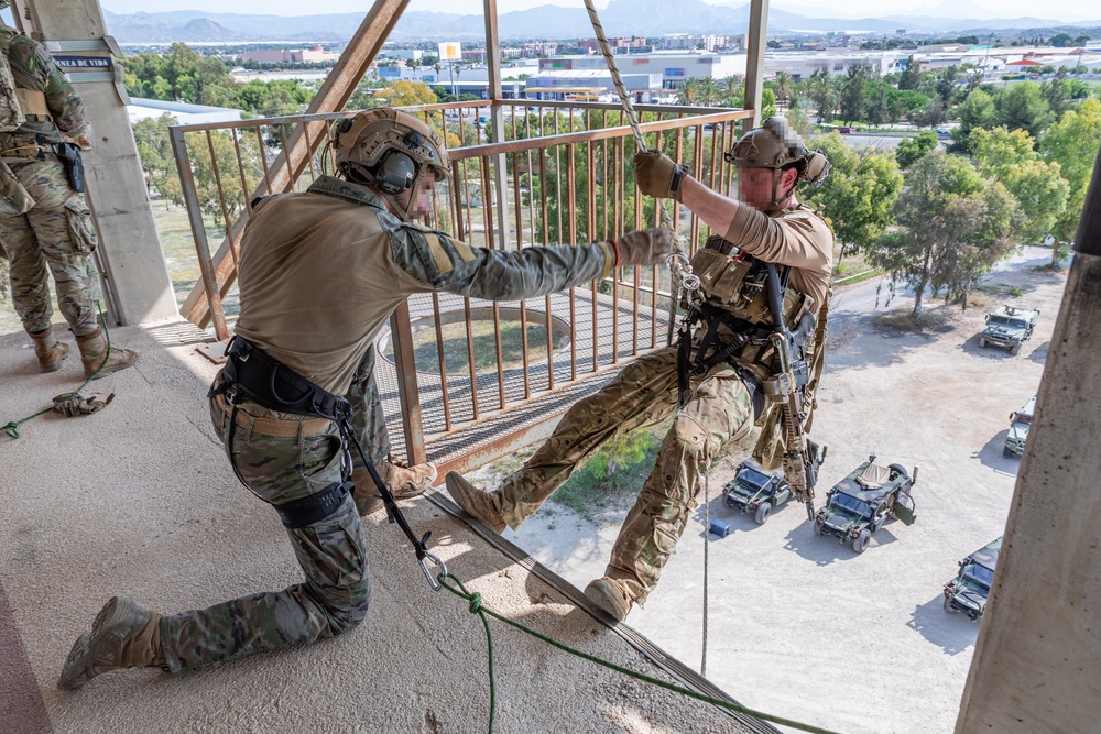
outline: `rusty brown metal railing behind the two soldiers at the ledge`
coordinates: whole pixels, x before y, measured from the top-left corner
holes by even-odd
[[[647,146],[683,161],[729,191],[722,153],[743,110],[639,106]],[[405,108],[443,133],[451,176],[438,183],[432,224],[472,245],[519,249],[617,238],[654,227],[659,212],[639,195],[635,142],[618,106],[504,100]],[[251,198],[305,190],[334,171],[330,122],[338,112],[175,125],[173,149],[201,277],[182,313],[227,339],[236,310],[240,237]],[[492,141],[492,116],[504,140]],[[672,202],[666,202],[672,204]],[[708,231],[674,206],[689,254]],[[220,239],[211,253],[210,241]],[[378,342],[391,431],[413,461],[446,469],[484,463],[522,446],[586,391],[584,382],[664,347],[672,335],[666,267],[619,269],[563,294],[482,302],[417,295]],[[399,448],[399,447],[395,447]]]

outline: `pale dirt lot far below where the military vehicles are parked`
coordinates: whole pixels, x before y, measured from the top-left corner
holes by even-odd
[[[731,534],[705,536],[701,506],[629,624],[697,667],[706,629],[707,677],[745,705],[839,732],[951,732],[979,625],[944,611],[941,587],[1004,530],[1020,463],[1002,456],[1009,414],[1036,393],[1066,282],[1066,271],[1036,270],[1049,260],[1025,248],[985,280],[1004,293],[977,293],[966,313],[927,299],[934,325],[923,333],[877,324],[889,310],[879,282],[836,294],[831,328],[848,341],[828,357],[815,419],[815,439],[829,447],[818,506],[875,453],[918,468],[915,524],[887,523],[859,556],[815,536],[795,503],[759,526],[722,505],[740,460],[730,457],[712,471],[708,511]],[[1040,308],[1017,355],[978,346],[986,310],[1001,303]],[[911,308],[905,295],[890,305]],[[593,523],[550,502],[505,533],[584,588],[602,574],[625,511]]]

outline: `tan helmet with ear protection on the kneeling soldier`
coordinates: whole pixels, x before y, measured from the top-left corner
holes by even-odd
[[[377,188],[405,221],[416,206],[416,187],[428,171],[447,178],[447,151],[439,134],[412,114],[390,108],[360,112],[333,127],[337,169],[349,180]],[[397,197],[414,189],[403,207]]]

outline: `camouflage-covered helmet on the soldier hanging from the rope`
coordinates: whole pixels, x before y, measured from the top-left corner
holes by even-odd
[[[735,166],[772,168],[772,204],[774,208],[785,197],[777,197],[776,186],[784,168],[795,167],[799,172],[796,182],[807,182],[820,186],[829,175],[830,164],[821,151],[808,151],[799,133],[792,129],[787,118],[771,117],[760,128],[754,128],[741,136],[724,154],[728,163]]]

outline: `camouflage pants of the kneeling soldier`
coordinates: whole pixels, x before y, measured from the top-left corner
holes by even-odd
[[[220,380],[220,375],[219,375]],[[224,443],[229,418],[210,402]],[[321,491],[341,479],[342,448],[335,425],[309,436],[264,436],[237,426],[231,461],[249,489],[273,504]],[[250,594],[161,622],[164,655],[173,672],[242,655],[334,637],[358,625],[371,600],[363,529],[349,495],[328,517],[287,529],[305,582],[280,592]]]

